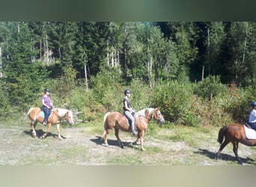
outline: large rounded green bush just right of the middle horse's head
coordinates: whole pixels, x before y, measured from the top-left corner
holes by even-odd
[[[200,118],[191,111],[192,85],[168,82],[153,88],[153,104],[160,107],[165,120],[187,126],[198,126]]]

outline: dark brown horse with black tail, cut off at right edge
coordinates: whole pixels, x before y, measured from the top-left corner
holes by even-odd
[[[225,141],[222,143],[224,137],[225,137]],[[221,129],[219,129],[218,141],[219,141],[219,144],[221,144],[221,146],[219,147],[219,150],[217,152],[217,159],[219,159],[221,151],[224,149],[224,147],[229,142],[231,142],[233,144],[233,152],[238,162],[240,162],[240,164],[242,165],[243,165],[243,162],[241,161],[237,153],[239,142],[241,144],[244,144],[250,147],[256,146],[256,140],[246,138],[246,132],[243,125],[238,123],[233,123],[228,126],[223,126]]]

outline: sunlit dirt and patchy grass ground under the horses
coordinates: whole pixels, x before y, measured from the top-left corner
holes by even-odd
[[[38,125],[37,134],[46,127]],[[198,147],[184,141],[164,141],[145,137],[144,147],[127,147],[135,138],[121,132],[125,147],[118,147],[114,133],[109,135],[109,147],[100,144],[101,135],[89,132],[86,127],[61,128],[64,139],[55,139],[55,126],[46,139],[31,138],[30,129],[13,126],[1,128],[0,165],[237,165],[231,145],[216,160],[219,144],[213,136]],[[252,164],[255,149],[240,144],[243,162]]]

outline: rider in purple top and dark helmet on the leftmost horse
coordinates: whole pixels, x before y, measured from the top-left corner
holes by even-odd
[[[44,94],[42,96],[42,110],[44,113],[43,125],[46,126],[49,115],[52,113],[52,101],[49,96],[49,88],[44,89]]]

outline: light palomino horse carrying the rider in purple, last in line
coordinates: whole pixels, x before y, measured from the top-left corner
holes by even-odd
[[[41,111],[41,108],[30,108],[28,111],[28,117],[31,120],[30,126],[33,138],[37,136],[37,133],[34,130],[35,126],[37,126],[37,122],[43,123],[43,116],[40,114],[41,112],[43,112]],[[73,114],[70,110],[64,108],[54,108],[52,110],[52,114],[48,118],[47,131],[40,138],[46,138],[47,134],[50,132],[52,124],[56,124],[58,138],[62,139],[60,131],[60,123],[62,119],[67,120],[70,126],[73,126]]]

